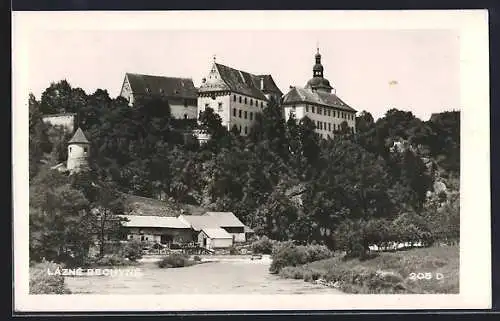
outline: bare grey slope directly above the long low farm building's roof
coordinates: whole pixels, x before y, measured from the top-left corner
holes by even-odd
[[[177,217],[180,214],[201,215],[205,212],[205,209],[194,205],[174,205],[166,201],[132,194],[123,194],[123,196],[125,198],[125,208],[129,215]]]

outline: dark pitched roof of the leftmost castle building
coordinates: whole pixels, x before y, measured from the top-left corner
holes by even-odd
[[[130,88],[134,94],[165,95],[166,97],[190,98],[198,97],[198,90],[191,78],[175,78],[152,75],[126,73]]]

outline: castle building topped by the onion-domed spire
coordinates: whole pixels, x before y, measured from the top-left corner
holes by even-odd
[[[319,49],[315,60],[313,77],[305,87],[290,87],[290,91],[283,97],[285,119],[288,120],[290,113],[298,120],[307,116],[314,122],[316,132],[323,138],[333,137],[333,134],[342,128],[343,122],[346,122],[349,130],[354,133],[356,110],[343,102],[328,79],[324,78]]]

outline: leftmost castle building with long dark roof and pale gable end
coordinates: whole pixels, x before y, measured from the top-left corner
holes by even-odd
[[[198,93],[191,78],[174,78],[126,73],[120,96],[130,105],[140,97],[164,97],[173,118],[197,119]]]

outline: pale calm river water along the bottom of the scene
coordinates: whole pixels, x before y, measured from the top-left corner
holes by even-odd
[[[91,294],[340,294],[303,280],[269,273],[270,260],[220,260],[184,268],[160,269],[154,262],[140,274],[66,277],[73,293]]]

